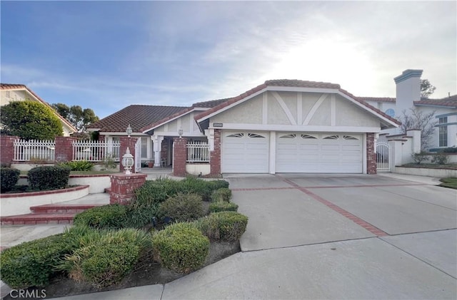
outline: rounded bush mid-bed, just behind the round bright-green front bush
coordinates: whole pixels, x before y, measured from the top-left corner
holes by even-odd
[[[162,202],[159,207],[161,217],[171,217],[176,222],[188,222],[205,215],[201,196],[179,193]]]

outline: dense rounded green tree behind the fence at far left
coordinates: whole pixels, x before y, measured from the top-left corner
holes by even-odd
[[[25,140],[54,140],[63,132],[62,123],[43,103],[34,100],[13,101],[0,110],[4,133]]]

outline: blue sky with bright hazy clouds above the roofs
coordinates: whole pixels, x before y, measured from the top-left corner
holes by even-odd
[[[0,79],[104,118],[189,106],[271,79],[395,97],[423,70],[457,93],[456,1],[0,1]]]

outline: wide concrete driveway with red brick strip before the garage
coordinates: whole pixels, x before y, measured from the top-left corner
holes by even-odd
[[[457,191],[389,176],[226,176],[249,217],[242,252],[66,299],[457,299]]]

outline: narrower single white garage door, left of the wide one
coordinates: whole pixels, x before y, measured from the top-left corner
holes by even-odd
[[[263,132],[223,131],[223,173],[268,173],[269,135]]]

